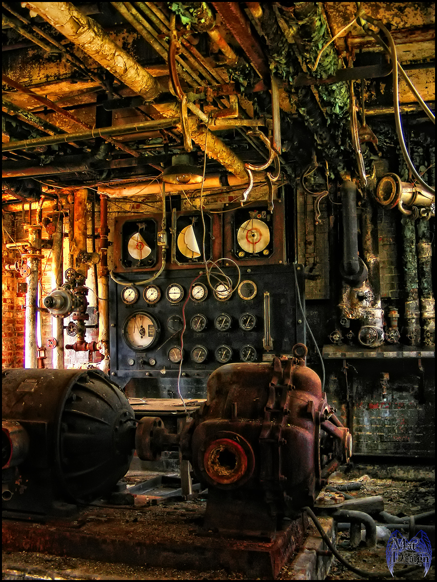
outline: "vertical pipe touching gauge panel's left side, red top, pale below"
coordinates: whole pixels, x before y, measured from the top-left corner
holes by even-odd
[[[103,360],[99,368],[109,373],[109,271],[108,271],[108,196],[100,193],[100,266],[99,286],[99,339],[98,345]]]

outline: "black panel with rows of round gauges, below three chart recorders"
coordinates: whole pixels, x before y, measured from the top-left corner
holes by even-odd
[[[271,361],[305,343],[293,265],[241,268],[239,282],[234,267],[223,273],[232,286],[211,278],[211,288],[192,269],[164,271],[153,283],[141,283],[141,273],[124,287],[110,283],[110,372],[131,396],[175,398],[181,372],[181,393],[203,398],[220,365]]]

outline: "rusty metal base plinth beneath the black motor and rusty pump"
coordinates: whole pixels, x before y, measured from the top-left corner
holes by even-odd
[[[146,510],[86,509],[76,521],[26,524],[3,519],[3,551],[34,551],[76,558],[180,569],[230,569],[256,579],[274,579],[303,543],[307,520],[296,520],[274,541],[221,538],[196,526],[203,503]],[[135,516],[135,519],[134,519]],[[129,523],[126,523],[126,522]],[[134,523],[132,523],[134,521]]]

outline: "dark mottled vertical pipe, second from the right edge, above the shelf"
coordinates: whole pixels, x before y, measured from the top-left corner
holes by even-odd
[[[403,267],[405,286],[404,340],[407,345],[418,346],[420,342],[419,296],[417,281],[417,256],[415,248],[414,220],[402,217]]]

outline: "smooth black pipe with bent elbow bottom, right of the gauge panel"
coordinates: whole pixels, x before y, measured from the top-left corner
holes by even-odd
[[[367,267],[358,256],[357,187],[345,180],[340,189],[343,220],[343,260],[340,272],[348,285],[358,286],[367,279]]]

